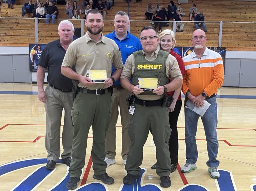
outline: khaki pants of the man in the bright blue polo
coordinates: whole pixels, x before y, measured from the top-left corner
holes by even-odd
[[[116,143],[117,143],[117,118],[118,118],[118,105],[120,108],[121,124],[122,124],[122,151],[121,155],[123,160],[127,159],[128,151],[131,141],[128,135],[128,127],[130,122],[130,114],[128,113],[128,106],[126,99],[132,95],[126,89],[117,90],[114,88],[111,97],[111,122],[106,133],[106,158],[115,159],[116,157]]]

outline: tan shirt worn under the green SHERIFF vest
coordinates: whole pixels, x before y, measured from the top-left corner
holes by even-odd
[[[151,57],[149,57],[144,50],[142,50],[143,55],[145,56],[145,59],[147,61],[154,61],[157,58],[159,52],[159,48],[152,53]],[[130,77],[132,76],[132,74],[134,73],[134,68],[135,68],[135,64],[134,64],[134,55],[131,54],[125,64],[124,64],[124,68],[121,74],[120,78],[127,78],[130,80]],[[165,68],[166,68],[166,75],[167,77],[171,77],[171,79],[182,79],[182,75],[181,75],[181,70],[179,68],[178,62],[176,60],[176,58],[172,55],[169,54],[169,56],[166,59],[166,63],[165,63]],[[147,95],[136,95],[138,98],[142,99],[142,100],[157,100],[163,97],[163,95],[158,96],[156,94],[153,96],[147,96]]]

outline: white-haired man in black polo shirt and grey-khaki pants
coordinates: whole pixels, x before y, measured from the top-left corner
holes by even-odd
[[[62,110],[65,110],[62,132],[63,153],[62,162],[70,165],[74,127],[71,122],[73,106],[72,81],[60,72],[61,64],[68,46],[73,41],[74,26],[70,21],[61,21],[58,27],[59,39],[45,45],[38,61],[37,85],[38,98],[45,103],[46,135],[45,148],[47,150],[47,169],[54,169],[60,156],[60,123]],[[44,91],[45,71],[48,68],[48,86]]]

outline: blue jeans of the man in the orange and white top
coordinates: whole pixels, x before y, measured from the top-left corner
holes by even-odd
[[[187,101],[185,98],[185,103]],[[208,151],[209,160],[206,165],[209,167],[218,167],[220,161],[218,161],[217,154],[219,143],[217,139],[217,103],[216,96],[207,99],[211,104],[207,111],[201,117],[203,122],[203,128],[206,136],[206,145]],[[197,144],[196,144],[196,132],[197,132],[197,122],[199,114],[193,112],[192,110],[185,108],[185,143],[186,143],[186,163],[195,164],[198,158]]]

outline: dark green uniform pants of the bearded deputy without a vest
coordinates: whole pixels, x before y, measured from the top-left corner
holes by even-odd
[[[72,160],[69,168],[70,177],[79,178],[85,165],[87,137],[93,128],[93,147],[91,151],[94,174],[106,173],[105,135],[111,118],[111,94],[102,95],[79,92],[74,99],[71,111],[74,124]]]

